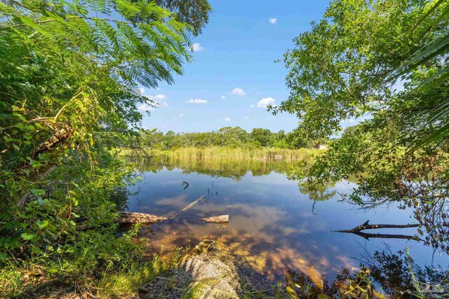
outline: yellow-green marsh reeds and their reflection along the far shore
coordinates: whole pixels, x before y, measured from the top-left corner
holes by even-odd
[[[185,173],[197,172],[214,177],[239,180],[248,172],[253,176],[271,172],[284,174],[293,167],[304,167],[300,162],[311,163],[323,151],[279,148],[182,148],[173,151],[154,150],[147,155],[127,155],[138,172],[157,172],[163,167],[180,168]]]

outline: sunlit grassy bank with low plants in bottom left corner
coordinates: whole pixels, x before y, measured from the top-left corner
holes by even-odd
[[[123,237],[109,239],[109,248],[104,248],[104,242],[101,249],[92,248],[110,253],[100,258],[101,265],[80,265],[79,260],[73,262],[77,265],[67,260],[49,265],[39,258],[27,263],[11,261],[0,270],[0,298],[132,298],[147,281],[176,267],[184,254],[176,248],[163,257],[147,256],[146,242],[150,241],[136,241],[137,231],[135,226]]]

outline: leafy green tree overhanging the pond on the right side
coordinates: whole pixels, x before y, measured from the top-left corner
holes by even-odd
[[[368,116],[357,134],[343,134],[297,179],[307,177],[314,188],[356,174],[351,202],[413,207],[427,242],[445,250],[448,141],[412,149],[448,123],[449,113],[440,113],[449,95],[447,76],[441,76],[448,71],[448,10],[442,0],[331,3],[285,55],[290,97],[278,110],[295,113],[295,134],[309,139],[330,137],[342,121]],[[436,42],[439,48],[425,50]],[[420,53],[427,53],[425,60]]]

